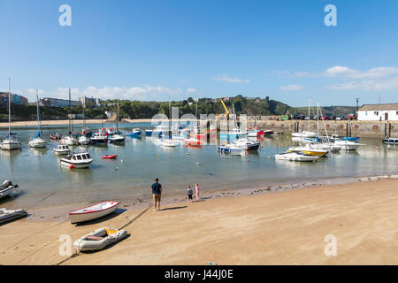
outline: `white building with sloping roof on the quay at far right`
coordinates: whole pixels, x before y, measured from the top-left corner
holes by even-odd
[[[360,121],[398,121],[398,103],[365,104],[358,109]]]

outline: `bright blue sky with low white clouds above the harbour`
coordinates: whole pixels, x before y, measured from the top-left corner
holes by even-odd
[[[73,98],[398,103],[396,11],[395,0],[0,0],[0,89],[10,77],[30,101],[70,87]]]

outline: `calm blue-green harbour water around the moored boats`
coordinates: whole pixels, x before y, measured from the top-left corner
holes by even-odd
[[[104,125],[112,126],[112,125]],[[94,130],[99,125],[90,125]],[[126,134],[133,127],[150,128],[150,124],[122,124]],[[75,126],[75,130],[79,128]],[[94,158],[89,169],[61,167],[53,155],[56,142],[47,149],[29,149],[27,142],[36,133],[34,127],[18,127],[23,143],[18,151],[0,150],[0,180],[19,184],[22,193],[0,203],[7,208],[27,208],[45,199],[46,205],[94,202],[103,199],[148,197],[149,185],[158,177],[165,195],[183,193],[187,184],[199,183],[203,190],[252,187],[299,180],[335,177],[359,177],[398,172],[398,148],[387,148],[379,139],[361,139],[365,146],[354,152],[332,154],[317,164],[276,161],[273,155],[290,146],[290,135],[275,135],[262,140],[263,149],[247,156],[223,156],[217,146],[202,148],[162,148],[152,139],[126,137],[125,145],[108,147],[73,147],[88,150]],[[67,133],[66,126],[43,126],[43,135]],[[0,130],[4,136],[6,129]],[[379,148],[376,150],[375,148]],[[116,160],[102,156],[117,154]],[[248,162],[249,160],[249,162]]]

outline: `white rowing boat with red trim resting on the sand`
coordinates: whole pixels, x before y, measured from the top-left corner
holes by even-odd
[[[96,203],[94,205],[90,205],[88,207],[69,212],[69,219],[71,220],[71,223],[79,223],[93,220],[96,218],[102,218],[105,215],[108,215],[111,212],[117,210],[118,207],[119,202],[109,201]]]

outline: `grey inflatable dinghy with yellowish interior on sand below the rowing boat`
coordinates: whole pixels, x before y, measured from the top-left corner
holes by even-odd
[[[105,226],[76,240],[73,246],[74,249],[80,251],[99,250],[122,240],[126,235],[126,230],[112,229]]]

